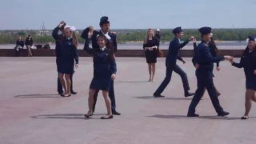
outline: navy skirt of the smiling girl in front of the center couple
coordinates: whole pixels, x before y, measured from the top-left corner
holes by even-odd
[[[90,82],[90,89],[110,91],[111,75],[94,77]]]

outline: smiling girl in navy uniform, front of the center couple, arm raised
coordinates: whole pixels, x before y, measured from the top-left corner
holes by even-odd
[[[89,32],[90,36],[92,35],[92,30]],[[89,37],[90,37],[89,36]],[[84,50],[87,53],[92,54],[94,57],[94,78],[90,83],[89,91],[89,111],[85,114],[86,118],[89,118],[93,115],[93,106],[94,106],[94,93],[96,90],[102,90],[102,95],[106,102],[106,116],[102,119],[113,118],[111,110],[111,101],[109,97],[110,83],[115,78],[117,72],[117,67],[114,59],[114,50],[111,46],[110,36],[107,34],[99,34],[97,36],[97,42],[100,49],[92,49],[89,47],[90,38],[86,38],[86,43]]]

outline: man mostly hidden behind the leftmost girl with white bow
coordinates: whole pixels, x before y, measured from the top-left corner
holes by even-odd
[[[62,25],[61,25],[62,24]],[[60,55],[59,54],[59,49],[61,48],[61,44],[60,44],[60,40],[62,40],[63,36],[63,30],[64,30],[64,26],[66,26],[66,22],[62,21],[54,30],[58,31],[58,35],[54,35],[57,33],[54,33],[53,31],[53,38],[55,40],[55,56],[56,56],[56,64],[58,67],[58,63],[60,62]],[[73,73],[74,74],[74,73]],[[70,74],[70,92],[71,94],[77,94],[76,92],[74,92],[73,90],[73,74]],[[62,90],[62,83],[61,81],[57,80],[58,82],[58,94],[63,94],[63,90]]]

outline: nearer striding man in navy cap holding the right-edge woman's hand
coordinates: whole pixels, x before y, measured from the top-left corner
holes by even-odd
[[[198,46],[194,50],[194,58],[193,63],[196,69],[196,76],[198,79],[198,89],[194,94],[194,98],[190,103],[190,107],[187,113],[187,117],[198,117],[199,114],[195,114],[195,108],[198,106],[198,102],[202,98],[203,91],[206,87],[208,94],[210,95],[210,100],[214,105],[214,109],[216,110],[218,116],[225,116],[230,113],[224,111],[222,106],[218,101],[218,96],[216,90],[214,88],[213,75],[211,74],[211,65],[214,62],[220,62],[226,60],[230,60],[230,56],[220,56],[213,57],[210,54],[210,48],[207,43],[210,42],[211,28],[210,27],[202,27],[199,29],[201,33],[202,42],[198,44]]]

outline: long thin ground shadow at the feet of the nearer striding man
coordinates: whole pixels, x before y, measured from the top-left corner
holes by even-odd
[[[170,118],[170,119],[194,119],[194,118],[202,118],[202,119],[217,119],[217,120],[241,120],[238,117],[219,117],[219,116],[199,116],[199,117],[187,117],[186,115],[165,115],[165,114],[155,114],[151,116],[146,116],[149,118]],[[250,117],[256,118],[256,117]]]

